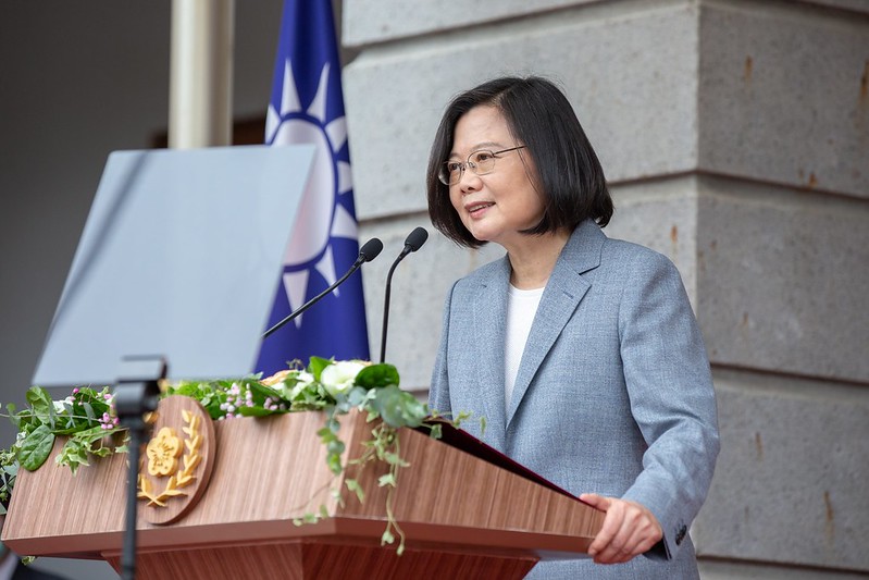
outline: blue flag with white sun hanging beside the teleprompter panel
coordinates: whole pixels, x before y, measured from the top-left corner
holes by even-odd
[[[340,72],[331,0],[285,0],[265,143],[314,144],[316,152],[269,328],[326,289],[359,256]],[[271,374],[311,356],[369,358],[361,272],[265,338],[255,370]]]

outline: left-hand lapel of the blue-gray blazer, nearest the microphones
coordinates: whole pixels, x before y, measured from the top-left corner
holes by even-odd
[[[485,441],[504,451],[504,348],[507,332],[507,286],[510,284],[510,262],[501,258],[492,275],[481,282],[474,296],[474,344],[477,345],[480,395],[486,418]],[[476,419],[476,418],[472,418]]]

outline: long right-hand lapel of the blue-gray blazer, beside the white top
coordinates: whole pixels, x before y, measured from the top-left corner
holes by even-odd
[[[512,399],[507,405],[507,421],[505,429],[516,415],[531,381],[551,350],[558,335],[573,317],[585,293],[592,287],[581,274],[597,268],[600,264],[600,249],[606,236],[600,227],[591,220],[580,224],[568,239],[567,245],[558,257],[546,289],[541,297],[534,323],[531,325],[519,374],[516,378]],[[506,316],[506,307],[505,307]],[[501,350],[504,343],[501,342]],[[501,354],[504,358],[504,354]],[[501,361],[501,369],[504,362]]]

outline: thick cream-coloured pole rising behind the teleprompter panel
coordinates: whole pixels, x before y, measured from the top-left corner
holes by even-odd
[[[232,144],[235,0],[173,0],[169,146]]]

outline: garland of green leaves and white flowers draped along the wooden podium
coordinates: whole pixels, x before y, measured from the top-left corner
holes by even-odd
[[[330,369],[330,367],[334,368]],[[326,371],[328,369],[328,371]],[[337,479],[347,468],[343,462],[347,448],[339,437],[340,416],[352,410],[365,412],[372,422],[371,439],[363,442],[361,455],[351,464],[357,479],[345,479],[344,488],[364,502],[364,491],[358,478],[365,466],[378,461],[388,466],[387,473],[378,479],[387,488],[386,530],[381,539],[392,544],[399,538],[398,553],[404,551],[405,534],[393,514],[393,495],[398,485],[398,470],[408,464],[401,459],[398,430],[417,428],[429,415],[427,406],[401,391],[399,375],[392,365],[371,365],[362,361],[334,361],[311,357],[308,367],[294,366],[273,378],[260,375],[214,381],[183,381],[167,385],[163,396],[183,395],[198,400],[216,421],[233,417],[264,417],[296,411],[323,411],[325,423],[318,431],[326,449],[326,465]],[[88,466],[91,456],[105,457],[125,453],[126,437],[120,441],[121,429],[112,406],[109,388],[95,391],[76,388],[63,400],[54,402],[38,386],[27,392],[27,407],[21,411],[10,405],[9,416],[18,428],[18,436],[9,449],[0,452],[0,503],[8,504],[18,467],[38,469],[45,464],[58,436],[66,441],[55,457],[59,465],[67,466],[73,473]],[[431,435],[439,436],[440,425],[432,424]],[[334,485],[334,482],[333,484]],[[343,489],[334,486],[332,497],[344,505]],[[0,505],[0,509],[3,509]],[[3,511],[4,513],[4,509]],[[301,526],[327,518],[328,510],[318,510],[296,518]]]

